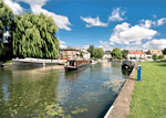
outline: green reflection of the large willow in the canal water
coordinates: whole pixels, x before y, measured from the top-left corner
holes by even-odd
[[[13,71],[13,73],[3,73],[3,75],[9,76],[10,84],[8,93],[10,95],[8,100],[2,100],[0,104],[0,114],[2,117],[37,117],[40,112],[45,111],[48,105],[56,101],[56,93],[54,89],[59,84],[59,73],[50,71],[40,75],[40,73],[35,74],[35,72],[31,74],[29,71],[24,71],[24,73],[22,71]],[[32,75],[37,79],[29,82],[28,79],[32,79],[29,78]],[[1,99],[3,98],[2,79],[4,78],[1,77]]]

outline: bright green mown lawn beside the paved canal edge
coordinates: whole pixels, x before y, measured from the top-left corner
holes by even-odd
[[[166,62],[139,64],[142,81],[135,82],[127,118],[166,118]]]

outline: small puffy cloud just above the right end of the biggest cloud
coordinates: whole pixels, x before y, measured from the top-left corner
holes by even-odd
[[[141,26],[149,29],[152,25],[156,25],[156,22],[152,20],[141,20]]]

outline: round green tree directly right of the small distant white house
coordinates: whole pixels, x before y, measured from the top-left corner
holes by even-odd
[[[113,52],[111,53],[111,55],[112,55],[112,58],[122,58],[123,57],[121,49],[117,49],[117,47],[115,47],[113,50]]]

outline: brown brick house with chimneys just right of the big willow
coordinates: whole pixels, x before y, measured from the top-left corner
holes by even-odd
[[[77,45],[74,47],[71,47],[68,45],[66,49],[60,49],[61,58],[80,58],[81,49],[77,49]]]

